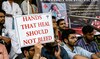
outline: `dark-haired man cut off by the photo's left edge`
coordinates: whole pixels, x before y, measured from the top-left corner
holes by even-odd
[[[7,30],[4,27],[4,23],[5,23],[5,11],[3,11],[2,9],[0,9],[0,42],[5,44],[8,53],[10,52],[10,47],[11,47],[11,39],[9,37],[7,37],[6,32]]]

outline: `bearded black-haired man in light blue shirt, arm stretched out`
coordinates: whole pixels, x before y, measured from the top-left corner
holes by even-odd
[[[73,29],[64,30],[62,33],[63,47],[68,52],[70,59],[100,59],[96,54],[81,47],[75,46],[77,37]]]

